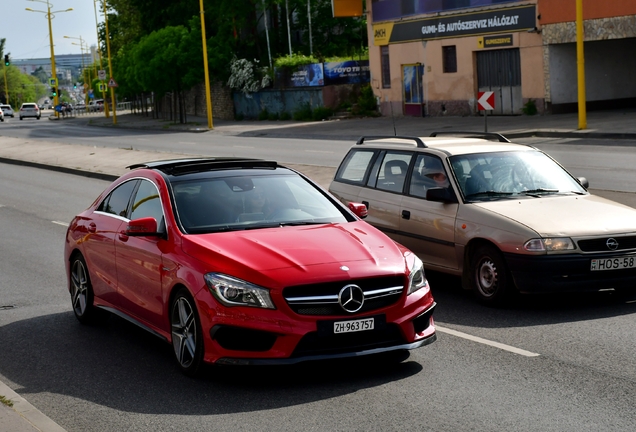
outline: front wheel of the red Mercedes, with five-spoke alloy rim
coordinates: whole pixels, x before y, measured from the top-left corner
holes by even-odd
[[[203,363],[203,335],[194,300],[185,288],[177,292],[170,306],[170,327],[179,368],[188,376],[196,376]]]

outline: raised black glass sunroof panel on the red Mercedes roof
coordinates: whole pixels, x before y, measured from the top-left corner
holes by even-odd
[[[192,158],[192,159],[168,159],[130,165],[129,169],[149,168],[158,169],[167,174],[185,174],[210,169],[228,168],[265,168],[276,169],[276,161],[249,158]]]

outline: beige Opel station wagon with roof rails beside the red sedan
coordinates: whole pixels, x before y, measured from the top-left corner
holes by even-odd
[[[636,286],[636,209],[589,194],[532,146],[439,135],[361,138],[330,192],[486,304]]]

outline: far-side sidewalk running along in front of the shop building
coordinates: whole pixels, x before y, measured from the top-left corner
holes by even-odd
[[[168,132],[199,132],[248,137],[337,139],[355,141],[362,135],[427,136],[432,132],[477,131],[483,132],[485,122],[489,132],[498,132],[508,138],[529,136],[556,138],[605,138],[636,140],[636,107],[616,111],[592,111],[587,113],[587,128],[578,130],[577,113],[543,116],[481,116],[470,117],[365,117],[360,119],[327,120],[322,122],[296,121],[228,121],[213,120],[208,130],[208,120],[200,116],[187,116],[186,124],[165,119],[153,119],[144,114],[118,114],[117,124],[112,115],[103,113],[78,116],[91,126],[165,130]],[[66,119],[69,120],[69,119]]]

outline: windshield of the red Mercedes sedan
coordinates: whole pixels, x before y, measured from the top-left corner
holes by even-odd
[[[297,175],[173,181],[172,190],[177,216],[189,234],[353,220]]]

